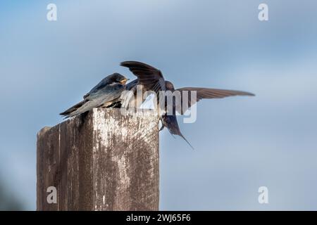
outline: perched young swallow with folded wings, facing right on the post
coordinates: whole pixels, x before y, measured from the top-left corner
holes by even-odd
[[[60,115],[65,118],[73,117],[85,113],[96,107],[111,107],[120,100],[120,95],[125,90],[126,77],[118,73],[108,75],[84,96],[84,100],[69,108]]]

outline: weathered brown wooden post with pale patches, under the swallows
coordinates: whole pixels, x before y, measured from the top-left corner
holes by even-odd
[[[159,210],[158,125],[149,110],[94,108],[44,127],[37,134],[37,210]],[[57,203],[46,199],[50,186]]]

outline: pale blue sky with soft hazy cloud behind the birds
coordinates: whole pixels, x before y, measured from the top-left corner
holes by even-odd
[[[180,124],[194,151],[161,132],[161,210],[317,210],[316,15],[313,0],[1,1],[8,193],[35,210],[37,131],[106,75],[134,78],[118,64],[141,60],[177,87],[256,94],[199,102],[197,122]]]

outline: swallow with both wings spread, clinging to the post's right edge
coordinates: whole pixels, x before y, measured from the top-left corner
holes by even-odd
[[[189,98],[188,104],[187,104],[188,107],[185,108],[185,111],[188,108],[190,108],[192,105],[194,105],[194,103],[197,103],[197,101],[201,100],[202,98],[224,98],[228,96],[254,96],[254,94],[251,94],[245,91],[209,89],[209,88],[201,88],[201,87],[183,87],[180,89],[175,89],[173,83],[165,80],[162,72],[152,67],[151,65],[147,65],[145,63],[140,63],[137,61],[125,61],[121,63],[120,65],[126,68],[129,68],[129,70],[135,76],[137,76],[138,83],[142,84],[144,89],[148,91],[155,91],[157,94],[158,101],[159,101],[159,91],[172,91],[172,92],[180,91],[181,96],[182,96],[182,91],[188,91],[189,94],[190,94],[190,91],[197,91],[197,99]],[[182,101],[182,98],[181,98],[181,101]],[[178,108],[176,108],[176,110],[178,110]],[[173,101],[173,112],[175,112],[174,101]],[[178,111],[178,113],[182,115],[185,112],[181,108],[180,112]],[[162,127],[160,131],[164,127],[167,127],[168,131],[170,131],[170,134],[181,136],[182,139],[184,139],[189,144],[189,146],[191,146],[190,143],[187,141],[187,139],[185,139],[185,137],[180,132],[180,127],[178,126],[178,120],[176,118],[175,113],[172,113],[172,115],[168,115],[167,113],[161,115],[161,122],[162,122]]]

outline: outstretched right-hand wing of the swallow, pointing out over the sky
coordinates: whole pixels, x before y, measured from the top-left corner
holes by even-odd
[[[225,98],[229,96],[254,96],[254,94],[246,91],[234,91],[234,90],[224,90],[224,89],[206,89],[201,87],[183,87],[181,89],[176,89],[180,91],[182,96],[182,91],[188,91],[188,107],[185,111],[192,105],[200,101],[202,98]],[[197,91],[197,99],[191,99],[191,91]],[[178,112],[185,113],[185,112]]]

